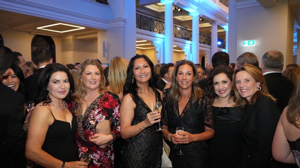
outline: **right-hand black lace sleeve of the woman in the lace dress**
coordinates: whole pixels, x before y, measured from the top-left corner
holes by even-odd
[[[207,95],[201,97],[201,108],[204,112],[204,126],[215,128],[214,113],[212,103]]]

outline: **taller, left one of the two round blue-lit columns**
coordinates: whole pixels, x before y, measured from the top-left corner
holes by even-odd
[[[173,2],[174,0],[161,0],[165,4],[165,40],[163,63],[173,62]]]

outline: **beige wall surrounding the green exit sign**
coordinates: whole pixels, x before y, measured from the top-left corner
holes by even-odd
[[[236,57],[254,53],[259,62],[268,50],[279,50],[284,64],[292,63],[294,19],[288,1],[279,0],[275,7],[255,6],[237,9]],[[256,40],[255,46],[242,46],[243,40]]]

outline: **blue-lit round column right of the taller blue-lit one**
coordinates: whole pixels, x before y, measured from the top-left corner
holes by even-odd
[[[195,64],[199,63],[199,15],[198,11],[189,13],[193,16],[192,21],[192,60]]]

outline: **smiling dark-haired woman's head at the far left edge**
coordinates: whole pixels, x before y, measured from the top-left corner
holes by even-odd
[[[21,68],[15,64],[11,65],[11,71],[3,76],[1,82],[7,87],[12,88],[17,93],[24,95],[24,74]]]

